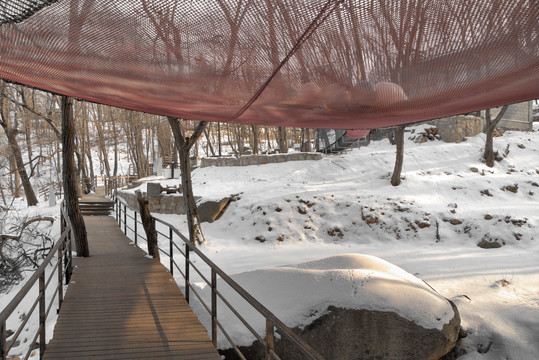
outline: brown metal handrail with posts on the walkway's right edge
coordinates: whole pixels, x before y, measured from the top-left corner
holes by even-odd
[[[129,207],[127,202],[122,199],[121,197],[116,196],[114,198],[114,204],[117,206],[117,211],[115,212],[115,215],[118,219],[118,226],[122,228],[122,220],[126,219],[126,209]],[[123,211],[124,216],[122,219],[122,206],[123,205]],[[137,213],[135,210],[131,209],[135,214]],[[131,219],[136,218],[131,217]],[[277,316],[275,316],[269,309],[267,309],[264,305],[262,305],[258,300],[256,300],[252,295],[250,295],[245,289],[243,289],[237,282],[235,282],[230,276],[228,276],[221,268],[219,268],[213,261],[211,261],[202,251],[200,251],[194,243],[189,241],[174,225],[158,219],[154,218],[156,223],[160,223],[162,225],[165,225],[169,228],[170,235],[170,253],[167,254],[170,257],[170,272],[173,273],[173,266],[176,265],[176,268],[180,270],[180,268],[177,266],[176,262],[173,259],[173,247],[176,247],[179,250],[179,247],[173,242],[173,234],[176,234],[184,243],[186,246],[185,253],[181,252],[182,255],[185,257],[185,268],[184,272],[180,270],[180,273],[185,279],[185,298],[187,302],[189,302],[189,290],[193,290],[195,295],[199,298],[202,305],[210,313],[212,317],[212,341],[214,345],[217,343],[217,327],[221,329],[229,343],[232,345],[234,350],[238,353],[240,358],[245,358],[243,354],[241,354],[241,351],[237,348],[237,346],[232,342],[232,340],[229,338],[227,332],[224,330],[222,324],[217,320],[217,314],[216,314],[216,300],[217,297],[221,298],[223,300],[223,303],[238,317],[238,319],[247,327],[247,329],[253,333],[255,338],[257,338],[260,343],[265,347],[266,349],[266,359],[274,358],[274,359],[280,359],[274,352],[274,328],[277,328],[277,331],[281,334],[281,336],[286,337],[289,341],[292,342],[303,354],[305,354],[308,358],[312,360],[324,360],[324,358],[316,351],[314,350],[310,345],[306,344],[295,332],[293,332],[288,326],[286,326]],[[127,229],[126,224],[123,224],[124,229]],[[131,231],[133,231],[130,228]],[[167,238],[166,235],[164,235],[161,232],[158,232],[161,236],[164,236]],[[135,237],[137,234],[135,233]],[[195,253],[206,265],[209,266],[211,269],[211,281],[208,281],[208,279],[203,276],[200,271],[195,267],[193,262],[189,259],[189,252]],[[166,253],[165,253],[166,254]],[[192,288],[190,279],[189,279],[189,267],[192,266],[195,271],[201,276],[201,278],[204,280],[204,282],[211,287],[211,297],[212,297],[212,306],[211,308],[205,304],[200,296],[194,291]],[[224,280],[225,283],[228,284],[238,295],[240,295],[249,305],[251,305],[260,315],[262,315],[266,319],[266,338],[265,340],[262,339],[261,336],[259,336],[254,329],[247,323],[245,319],[243,319],[238,311],[232,307],[232,305],[226,301],[223,297],[223,294],[217,290],[217,275],[221,277],[222,280]],[[263,340],[263,341],[261,341]]]

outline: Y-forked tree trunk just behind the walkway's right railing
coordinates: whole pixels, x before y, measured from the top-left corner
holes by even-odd
[[[169,117],[168,122],[176,141],[176,147],[180,153],[180,171],[182,177],[183,200],[187,207],[187,226],[189,228],[189,240],[196,244],[202,243],[202,229],[200,228],[200,219],[198,209],[193,195],[193,185],[191,181],[191,163],[189,162],[189,150],[196,144],[196,141],[202,135],[207,122],[200,121],[196,126],[191,137],[184,136],[180,128],[179,119]]]

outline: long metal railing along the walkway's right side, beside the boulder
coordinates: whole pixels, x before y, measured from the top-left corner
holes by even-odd
[[[114,198],[115,204],[115,216],[118,221],[118,226],[120,229],[123,228],[123,232],[127,236],[127,231],[131,231],[134,235],[134,242],[138,244],[139,238],[147,241],[145,235],[138,233],[137,224],[142,225],[140,221],[140,216],[137,215],[137,212],[129,208],[127,203],[119,198]],[[133,215],[128,214],[131,212]],[[131,219],[134,223],[133,227],[127,225],[127,219]],[[259,343],[265,349],[265,359],[275,359],[280,360],[275,353],[275,332],[277,332],[281,339],[287,339],[291,344],[293,344],[298,350],[300,350],[308,359],[312,360],[323,360],[324,358],[318,354],[311,346],[306,344],[301,338],[294,333],[290,328],[288,328],[281,320],[279,320],[272,312],[270,312],[264,305],[252,297],[247,291],[245,291],[238,283],[236,283],[232,278],[230,278],[223,270],[221,270],[217,265],[215,265],[206,255],[204,255],[189,239],[187,239],[183,234],[181,234],[173,225],[167,223],[166,221],[154,218],[156,223],[160,223],[168,227],[168,234],[157,231],[158,237],[161,236],[165,239],[168,239],[168,249],[162,249],[158,247],[161,254],[166,255],[169,258],[169,271],[174,275],[175,269],[181,274],[185,281],[184,296],[186,301],[189,303],[190,293],[196,295],[202,306],[211,316],[211,340],[214,346],[217,346],[217,329],[219,328],[222,334],[225,336],[231,347],[235,350],[236,354],[240,359],[245,360],[245,356],[242,354],[238,346],[236,346],[234,340],[225,330],[223,324],[219,321],[218,312],[217,312],[217,299],[221,299],[222,303],[232,311],[232,313],[242,322],[242,324],[254,335],[254,337],[259,341]],[[176,244],[175,240],[181,240],[180,245]],[[183,244],[182,244],[183,243]],[[183,250],[182,246],[183,245]],[[185,262],[183,264],[183,270],[180,268],[176,260],[174,260],[175,250],[183,256]],[[205,276],[202,274],[202,271],[194,264],[191,255],[194,254],[198,256],[210,269],[210,275]],[[166,262],[166,260],[165,260]],[[207,304],[202,296],[198,293],[195,287],[191,283],[190,279],[190,270],[194,270],[198,276],[208,285],[211,289],[211,304]],[[208,279],[209,277],[209,279]],[[230,288],[232,288],[236,294],[240,295],[253,309],[255,309],[261,316],[265,318],[266,321],[266,333],[265,335],[258,334],[253,326],[248,323],[247,320],[237,309],[235,309],[232,304],[223,296],[223,294],[218,289],[218,278],[226,283]]]

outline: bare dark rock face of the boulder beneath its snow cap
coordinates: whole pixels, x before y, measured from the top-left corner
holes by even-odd
[[[391,312],[330,306],[327,314],[294,331],[327,360],[438,360],[451,351],[460,330],[458,309],[450,303],[454,316],[442,330],[425,329]],[[258,342],[240,349],[247,359],[264,358]],[[284,338],[277,341],[276,353],[283,360],[308,359]],[[221,354],[226,360],[237,358],[232,349]]]

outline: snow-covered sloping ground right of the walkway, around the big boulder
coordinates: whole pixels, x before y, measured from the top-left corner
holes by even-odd
[[[537,125],[495,138],[505,157],[494,168],[481,163],[482,134],[460,144],[407,140],[398,187],[389,184],[395,148],[387,140],[320,161],[197,169],[195,195],[239,194],[218,221],[203,224],[200,248],[229,274],[339,254],[378,256],[457,304],[468,333],[462,359],[536,359]],[[186,232],[183,217],[158,217]],[[501,247],[480,248],[482,240]]]

